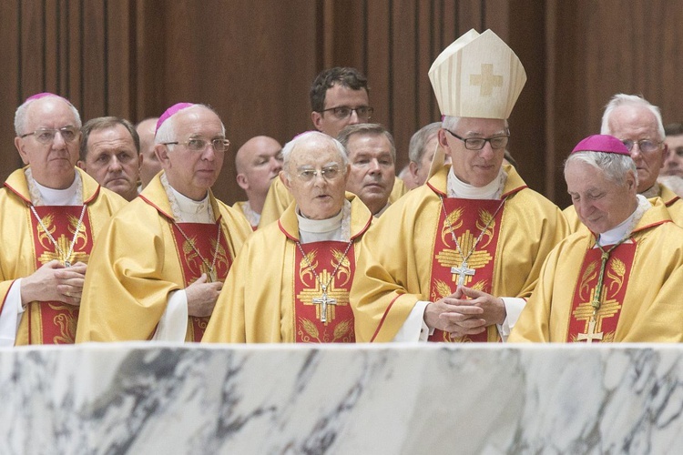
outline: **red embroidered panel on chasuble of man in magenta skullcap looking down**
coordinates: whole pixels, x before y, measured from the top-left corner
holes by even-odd
[[[607,251],[610,247],[603,248]],[[579,279],[576,282],[572,311],[569,314],[567,342],[587,342],[588,339],[590,342],[614,340],[628,288],[628,278],[636,257],[636,244],[622,243],[610,253],[603,278],[602,298],[596,314],[596,324],[594,328],[589,329],[593,316],[591,301],[596,292],[601,256],[602,252],[599,248],[591,248],[584,257]]]

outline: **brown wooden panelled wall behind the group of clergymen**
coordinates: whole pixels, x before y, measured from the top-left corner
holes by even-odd
[[[433,58],[473,27],[493,29],[525,66],[509,148],[529,186],[562,207],[562,162],[598,132],[610,96],[642,94],[665,123],[683,119],[683,1],[3,0],[0,21],[3,180],[20,166],[14,111],[26,96],[66,96],[84,121],[201,102],[234,144],[215,188],[231,203],[244,198],[234,152],[251,136],[284,143],[310,129],[309,87],[330,66],[368,76],[401,168],[413,132],[439,119]]]

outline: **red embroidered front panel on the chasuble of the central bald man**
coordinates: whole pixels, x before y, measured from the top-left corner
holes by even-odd
[[[296,248],[294,259],[294,332],[297,343],[353,343],[353,312],[349,305],[349,291],[353,283],[356,261],[353,247],[347,242],[325,241],[301,245],[308,261]],[[326,321],[322,322],[321,283],[330,281],[335,268],[337,272],[327,288]],[[339,268],[337,268],[339,266]],[[331,303],[330,299],[334,299]]]

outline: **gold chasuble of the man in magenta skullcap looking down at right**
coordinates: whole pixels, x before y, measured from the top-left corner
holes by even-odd
[[[609,252],[600,286],[593,233],[582,229],[557,245],[508,341],[681,341],[683,229],[661,199],[650,203],[631,236]]]

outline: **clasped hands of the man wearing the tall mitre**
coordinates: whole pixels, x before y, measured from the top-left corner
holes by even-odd
[[[465,286],[458,286],[453,294],[424,309],[427,326],[449,332],[452,337],[482,333],[488,326],[503,324],[505,316],[502,298]]]

